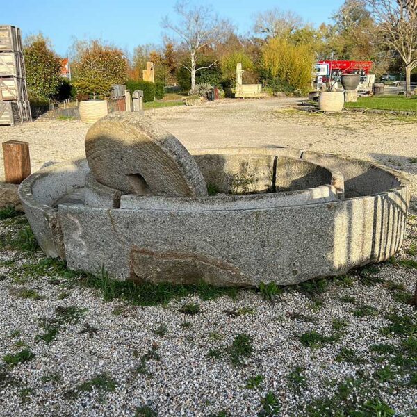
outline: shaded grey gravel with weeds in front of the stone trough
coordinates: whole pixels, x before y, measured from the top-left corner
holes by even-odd
[[[236,299],[190,295],[147,307],[103,302],[99,291],[52,268],[46,276],[34,273],[28,265],[42,263],[42,254],[17,252],[4,243],[24,227],[19,223],[15,218],[0,225],[1,416],[141,416],[136,410],[145,406],[157,413],[145,416],[325,416],[341,409],[340,415],[348,416],[348,407],[366,400],[384,402],[398,416],[416,415],[417,361],[402,344],[417,343],[417,314],[397,301],[404,291],[411,295],[416,284],[416,269],[399,264],[417,260],[415,215],[396,265],[287,288],[274,302],[242,290]],[[199,305],[197,314],[181,312],[190,303]],[[72,315],[65,319],[63,311]],[[411,320],[407,332],[384,331],[390,313]],[[42,338],[45,323],[58,323],[49,343]],[[313,331],[330,339],[303,345],[302,334]],[[250,337],[250,349],[234,364],[231,346],[238,335]],[[373,352],[371,346],[380,344],[398,349],[411,365],[404,368],[395,356]],[[338,359],[343,348],[352,350],[354,359]],[[34,354],[30,360],[6,364],[7,354],[24,349]],[[299,377],[291,378],[294,371]],[[107,375],[114,387],[85,391],[82,384],[97,375]],[[261,375],[259,386],[248,388],[256,375]],[[268,393],[280,414],[263,413]],[[325,398],[331,398],[330,407]],[[359,415],[391,416],[370,410]]]

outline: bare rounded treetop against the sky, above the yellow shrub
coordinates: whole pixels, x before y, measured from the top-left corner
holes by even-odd
[[[287,38],[302,26],[302,17],[279,8],[258,13],[255,17],[254,32],[267,38]]]

